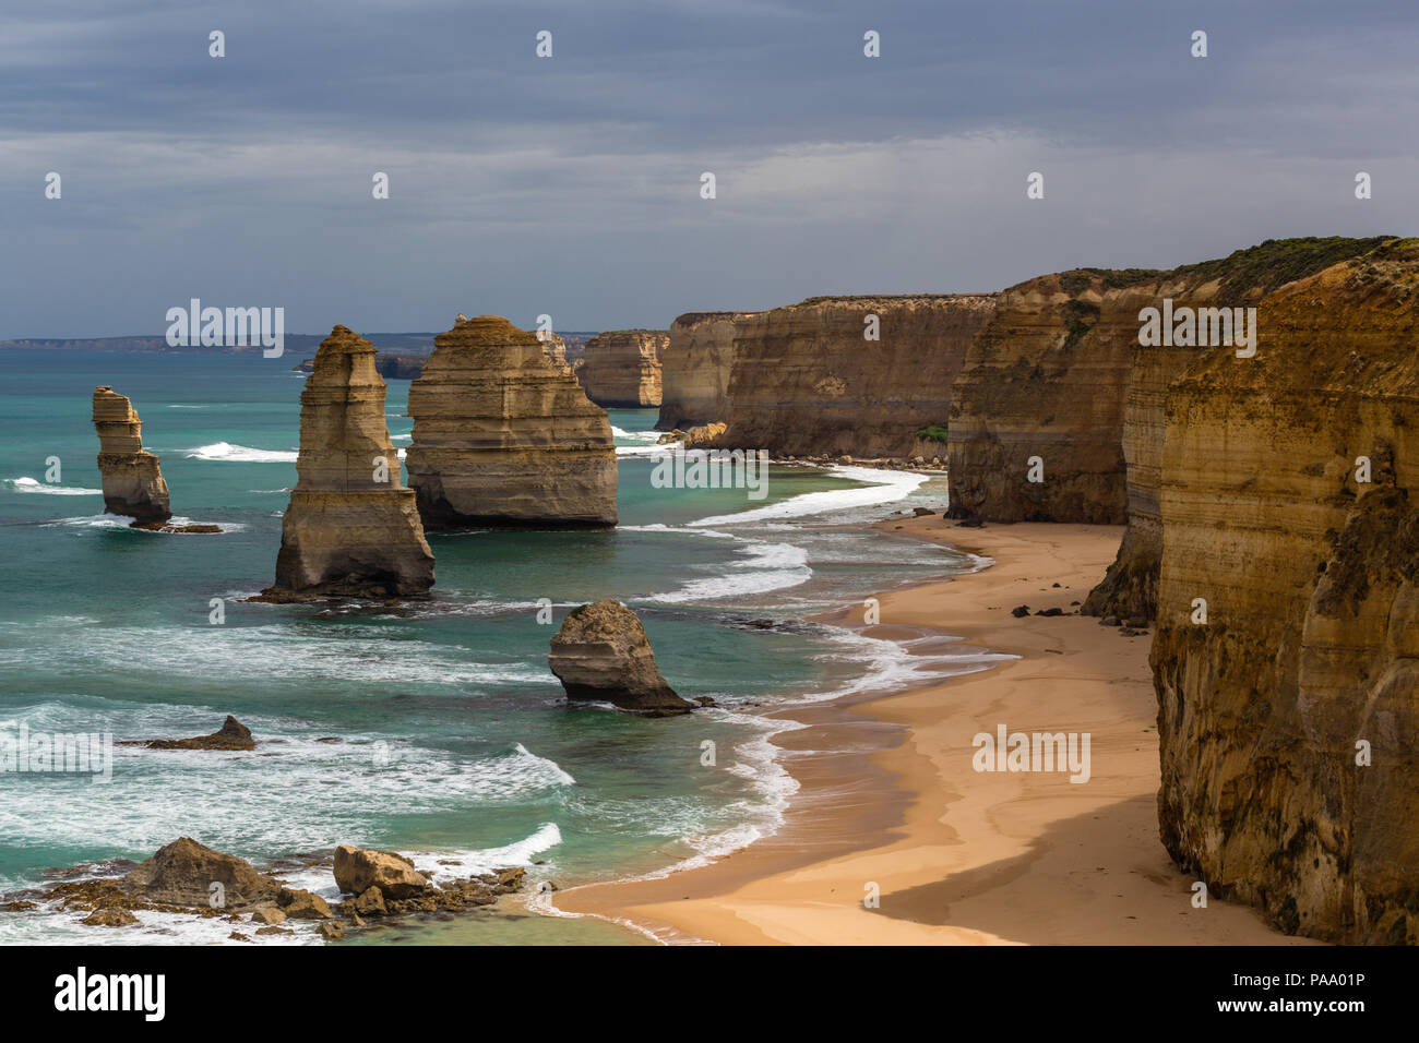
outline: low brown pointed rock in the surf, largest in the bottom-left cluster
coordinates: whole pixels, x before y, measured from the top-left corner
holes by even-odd
[[[213,884],[221,887],[214,890]],[[274,905],[281,884],[257,873],[244,859],[182,837],[139,863],[119,881],[119,888],[135,898],[166,905],[244,910]],[[221,904],[214,907],[217,895]]]

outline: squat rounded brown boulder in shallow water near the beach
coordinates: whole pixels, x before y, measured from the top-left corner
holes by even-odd
[[[657,715],[694,710],[656,668],[640,619],[613,599],[568,613],[552,639],[548,661],[569,700],[612,702]]]

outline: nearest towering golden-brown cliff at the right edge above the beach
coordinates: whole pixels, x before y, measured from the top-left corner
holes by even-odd
[[[1166,394],[1162,840],[1287,931],[1416,944],[1419,241],[1257,321],[1254,358],[1210,351]]]

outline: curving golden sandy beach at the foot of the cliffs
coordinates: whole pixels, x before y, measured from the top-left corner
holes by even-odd
[[[1195,907],[1195,881],[1158,841],[1149,637],[1067,614],[1103,578],[1121,526],[968,529],[927,517],[880,528],[996,563],[880,595],[880,624],[864,633],[935,630],[1017,658],[888,697],[780,711],[809,727],[776,738],[802,782],[779,833],[704,868],[570,888],[559,908],[629,920],[666,941],[732,945],[1314,944],[1215,897]],[[1015,617],[1019,605],[1066,614]],[[861,609],[841,622],[861,624]],[[1087,732],[1088,780],[976,771],[973,736],[1002,725]]]

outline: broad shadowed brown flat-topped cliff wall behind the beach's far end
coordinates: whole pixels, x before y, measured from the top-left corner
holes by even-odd
[[[727,447],[897,457],[945,423],[986,294],[813,298],[734,322]],[[866,339],[877,316],[877,341]]]

